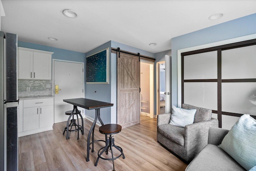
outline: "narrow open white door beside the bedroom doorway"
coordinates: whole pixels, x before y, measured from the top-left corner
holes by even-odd
[[[165,113],[172,112],[172,57],[165,55]]]

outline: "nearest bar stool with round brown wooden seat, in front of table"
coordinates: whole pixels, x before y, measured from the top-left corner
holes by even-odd
[[[100,133],[105,134],[105,137],[107,135],[109,135],[109,137],[106,139],[106,146],[102,147],[98,151],[98,158],[96,160],[95,166],[98,165],[99,158],[104,159],[104,160],[112,160],[113,161],[113,168],[114,168],[114,171],[115,171],[114,160],[121,157],[121,155],[123,156],[123,159],[125,159],[123,149],[121,147],[115,145],[114,138],[112,137],[113,134],[119,133],[119,132],[121,132],[121,130],[122,130],[122,126],[118,125],[118,124],[106,124],[106,125],[102,125],[99,128]],[[118,149],[118,151],[120,151],[121,154],[118,155],[117,157],[114,157],[112,147],[115,147],[116,149]],[[104,153],[104,151],[106,151],[106,154],[108,155],[108,149],[110,149],[110,151],[111,151],[112,158],[101,157],[101,155]]]

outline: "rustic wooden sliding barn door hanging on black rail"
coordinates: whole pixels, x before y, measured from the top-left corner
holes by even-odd
[[[123,128],[140,123],[140,61],[117,55],[117,123]]]

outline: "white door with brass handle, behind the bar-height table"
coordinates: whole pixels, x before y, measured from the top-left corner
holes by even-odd
[[[63,99],[84,97],[84,63],[54,60],[54,123],[68,120],[65,111],[72,110],[73,105]],[[55,94],[55,85],[59,85],[59,93]],[[84,115],[84,109],[79,108]]]

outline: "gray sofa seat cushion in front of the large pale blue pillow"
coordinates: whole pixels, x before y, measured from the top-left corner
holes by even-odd
[[[186,171],[245,171],[217,145],[208,144],[192,160]]]

